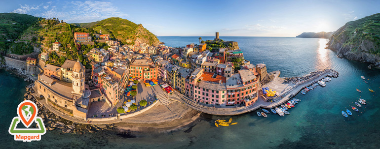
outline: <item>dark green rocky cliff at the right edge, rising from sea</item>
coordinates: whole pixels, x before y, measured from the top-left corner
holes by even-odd
[[[347,22],[327,43],[339,58],[380,66],[380,13]]]

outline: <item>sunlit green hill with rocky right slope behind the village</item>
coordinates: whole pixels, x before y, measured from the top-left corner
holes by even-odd
[[[141,24],[135,24],[129,20],[121,18],[108,18],[99,21],[91,27],[102,34],[110,34],[111,38],[119,40],[123,44],[139,45],[147,43],[151,46],[160,44],[158,38]]]

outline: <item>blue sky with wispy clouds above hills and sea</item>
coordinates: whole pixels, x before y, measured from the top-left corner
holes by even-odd
[[[0,12],[67,23],[109,17],[142,24],[157,36],[278,36],[335,31],[379,13],[380,0],[0,0]]]

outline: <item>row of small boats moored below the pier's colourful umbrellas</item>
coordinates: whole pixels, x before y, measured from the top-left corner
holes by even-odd
[[[285,114],[286,115],[290,115],[290,113],[287,111],[288,109],[290,108],[293,108],[295,104],[297,104],[299,101],[301,101],[301,99],[297,99],[297,98],[293,98],[291,100],[289,100],[287,103],[284,103],[281,105],[281,107],[276,107],[275,109],[270,109],[270,111],[274,114],[278,114],[280,116],[284,116]],[[263,117],[267,117],[266,113],[270,114],[270,112],[266,109],[262,109],[263,112],[257,112],[257,115],[259,117],[263,116]]]

